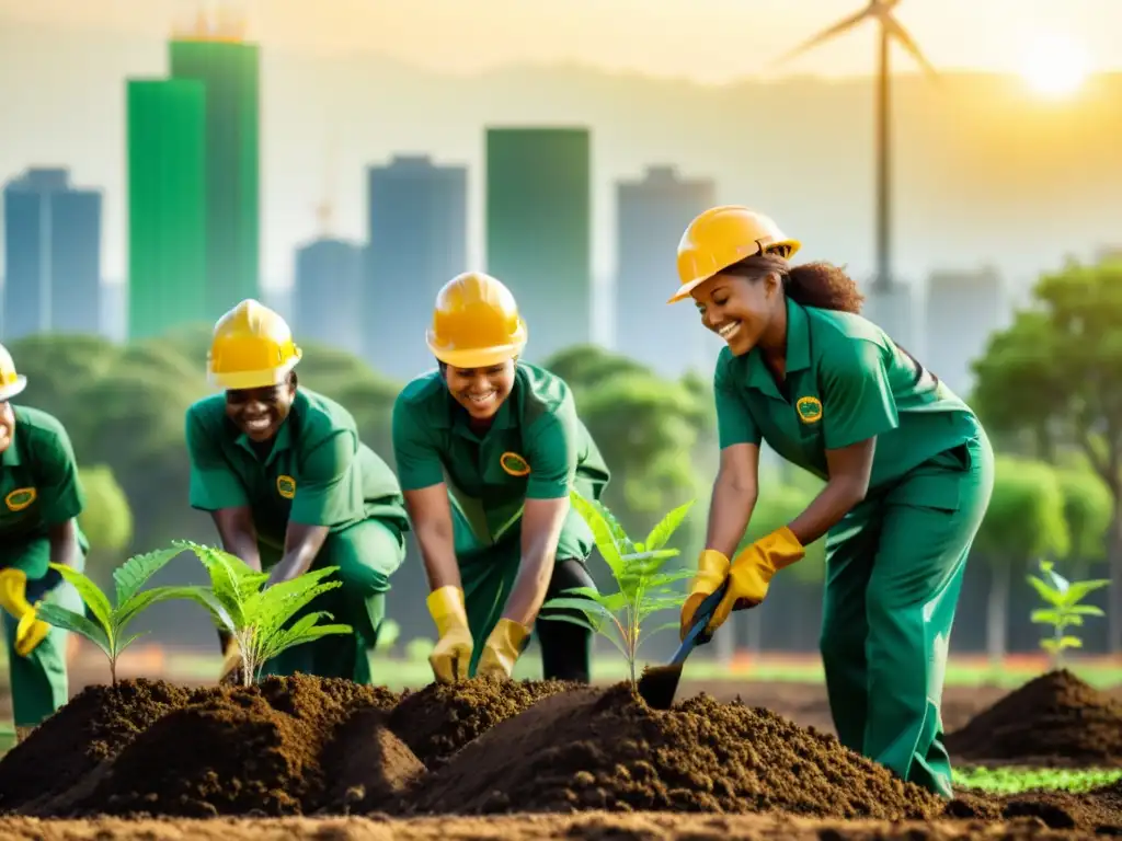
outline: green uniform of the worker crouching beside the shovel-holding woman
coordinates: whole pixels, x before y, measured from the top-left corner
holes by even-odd
[[[469,666],[475,675],[481,643],[503,617],[517,577],[525,501],[568,497],[570,488],[599,499],[610,473],[577,417],[569,386],[521,361],[511,395],[482,436],[469,427],[439,370],[410,382],[394,406],[394,454],[403,490],[448,484],[468,627],[477,643]],[[583,562],[594,546],[585,520],[570,509],[555,560]]]

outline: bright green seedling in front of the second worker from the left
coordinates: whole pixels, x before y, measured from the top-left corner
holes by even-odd
[[[311,570],[263,590],[269,574],[254,570],[237,555],[190,540],[177,540],[175,546],[178,547],[176,552],[193,552],[206,567],[211,586],[192,588],[191,595],[238,641],[246,686],[251,686],[260,677],[265,664],[282,651],[329,634],[353,631],[349,625],[319,625],[320,619],[333,619],[331,613],[322,610],[307,613],[285,627],[313,599],[342,586],[341,581],[323,581],[338,566]]]

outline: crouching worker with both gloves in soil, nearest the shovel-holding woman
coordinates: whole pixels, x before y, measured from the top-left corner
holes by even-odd
[[[591,631],[563,619],[583,614],[539,611],[596,586],[585,566],[592,535],[569,491],[599,499],[607,465],[568,385],[518,360],[526,325],[497,279],[445,284],[427,342],[439,368],[398,395],[393,429],[440,634],[433,673],[507,678],[533,628],[544,677],[588,683]]]

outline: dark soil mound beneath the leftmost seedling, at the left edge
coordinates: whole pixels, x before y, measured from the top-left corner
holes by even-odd
[[[144,677],[88,686],[0,761],[0,810],[62,794],[190,699],[188,690]]]

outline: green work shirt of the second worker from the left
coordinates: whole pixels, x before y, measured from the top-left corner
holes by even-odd
[[[265,546],[283,549],[289,521],[327,526],[334,534],[378,518],[408,530],[393,471],[359,441],[347,409],[306,388],[297,389],[265,454],[226,416],[224,394],[187,409],[186,437],[191,507],[249,506]]]

